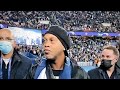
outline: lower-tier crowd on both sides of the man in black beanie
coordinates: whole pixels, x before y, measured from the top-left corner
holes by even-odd
[[[94,62],[96,59],[100,59],[100,52],[105,45],[117,46],[119,42],[118,38],[107,39],[102,37],[80,37],[71,36],[71,48],[68,50],[68,55],[72,60],[77,62]],[[36,57],[43,56],[42,45],[20,45],[18,44],[16,49],[20,53],[29,52]]]

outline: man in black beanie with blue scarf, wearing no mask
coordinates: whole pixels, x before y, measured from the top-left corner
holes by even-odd
[[[64,28],[51,26],[44,35],[43,58],[34,79],[88,79],[88,74],[68,57],[70,39]]]

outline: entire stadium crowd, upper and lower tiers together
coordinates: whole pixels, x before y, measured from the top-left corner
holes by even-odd
[[[41,24],[49,21],[49,24]],[[50,25],[60,25],[67,31],[120,31],[119,11],[0,11],[0,23],[8,26],[48,29]],[[103,27],[102,23],[110,24]],[[104,45],[116,44],[117,40],[97,37],[71,37],[72,46],[68,50],[69,56],[76,61],[89,62],[100,58]],[[39,46],[18,45],[19,52],[30,52],[41,57],[42,48]],[[43,53],[42,53],[43,54]]]

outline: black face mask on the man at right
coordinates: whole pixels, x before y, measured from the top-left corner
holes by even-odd
[[[105,60],[103,59],[101,61],[101,65],[100,65],[100,68],[103,69],[103,70],[108,70],[109,68],[111,68],[113,65],[111,64],[111,61],[112,60]]]

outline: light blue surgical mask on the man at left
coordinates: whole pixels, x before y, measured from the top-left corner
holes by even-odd
[[[3,54],[8,54],[10,51],[12,51],[12,43],[8,41],[0,41],[0,51]]]

